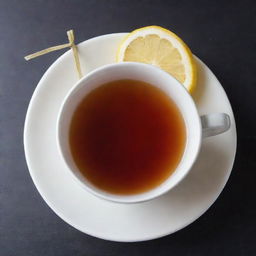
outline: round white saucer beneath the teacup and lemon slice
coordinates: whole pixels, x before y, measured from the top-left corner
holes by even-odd
[[[110,34],[79,45],[87,73],[113,63],[125,34]],[[143,241],[171,234],[192,223],[216,200],[230,175],[236,152],[236,128],[228,98],[213,73],[197,59],[200,114],[225,112],[231,129],[205,139],[199,158],[175,189],[158,199],[123,205],[98,199],[73,181],[56,146],[56,118],[61,102],[77,82],[73,56],[63,54],[50,66],[31,99],[24,145],[31,177],[47,204],[64,221],[89,235],[113,241]]]

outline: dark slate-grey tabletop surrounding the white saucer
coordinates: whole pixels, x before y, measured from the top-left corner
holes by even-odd
[[[0,0],[0,255],[256,255],[255,1]],[[85,235],[46,205],[23,151],[26,109],[37,82],[65,50],[31,62],[23,57],[147,25],[166,27],[219,78],[238,129],[233,172],[216,203],[187,228],[141,243]]]

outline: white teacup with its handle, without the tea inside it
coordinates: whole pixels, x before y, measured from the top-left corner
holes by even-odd
[[[135,195],[112,194],[93,185],[80,173],[69,147],[70,122],[80,101],[93,89],[107,82],[121,79],[143,81],[164,91],[180,109],[187,133],[185,151],[176,170],[158,187]],[[200,117],[190,94],[168,73],[152,65],[124,62],[92,71],[70,90],[63,101],[57,121],[57,143],[69,172],[84,189],[114,202],[136,203],[156,198],[175,187],[191,170],[198,156],[202,138],[223,133],[229,127],[230,118],[227,114],[217,113]]]

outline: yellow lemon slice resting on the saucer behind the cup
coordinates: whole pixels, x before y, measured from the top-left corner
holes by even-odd
[[[174,76],[192,92],[196,84],[196,66],[188,46],[173,32],[148,26],[134,30],[121,42],[117,61],[155,65]]]

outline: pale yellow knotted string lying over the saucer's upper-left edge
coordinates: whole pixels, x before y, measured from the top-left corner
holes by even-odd
[[[47,54],[49,52],[53,52],[53,51],[57,51],[57,50],[61,50],[61,49],[70,47],[72,49],[72,52],[73,52],[78,77],[79,77],[79,79],[82,78],[83,75],[82,75],[82,71],[81,71],[81,65],[80,65],[79,55],[78,55],[78,51],[77,51],[77,46],[75,45],[75,36],[74,36],[73,29],[67,31],[67,35],[68,35],[69,43],[52,46],[52,47],[49,47],[47,49],[29,54],[29,55],[24,57],[25,60],[31,60],[31,59],[34,59],[34,58],[39,57],[41,55]]]

